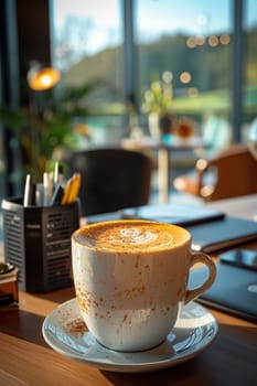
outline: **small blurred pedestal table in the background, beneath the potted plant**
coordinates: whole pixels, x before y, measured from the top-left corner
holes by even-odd
[[[152,137],[142,137],[139,139],[124,138],[121,140],[121,147],[141,151],[157,150],[159,202],[165,203],[169,202],[170,191],[170,154],[174,151],[202,149],[204,142],[201,137],[192,137],[186,140],[172,137],[170,141],[162,141],[159,138]]]

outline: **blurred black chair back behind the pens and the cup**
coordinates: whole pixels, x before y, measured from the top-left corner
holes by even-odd
[[[124,149],[73,152],[69,171],[82,174],[79,199],[84,216],[148,203],[152,161]]]

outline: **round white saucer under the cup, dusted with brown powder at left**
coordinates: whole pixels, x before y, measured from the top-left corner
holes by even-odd
[[[101,346],[88,332],[76,299],[50,313],[42,328],[46,343],[58,353],[100,369],[125,373],[156,371],[185,362],[205,350],[217,330],[215,318],[202,305],[191,302],[159,346],[137,353],[116,352]]]

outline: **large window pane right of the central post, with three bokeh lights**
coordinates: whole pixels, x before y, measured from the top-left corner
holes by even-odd
[[[136,31],[139,88],[169,71],[175,114],[193,118],[201,131],[213,136],[216,147],[226,146],[231,129],[232,1],[137,0]],[[218,138],[211,127],[217,121]]]

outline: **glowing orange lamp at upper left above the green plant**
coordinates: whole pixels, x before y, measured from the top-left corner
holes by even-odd
[[[39,62],[32,62],[26,76],[30,88],[35,92],[44,92],[54,87],[60,78],[58,69],[43,66]]]

